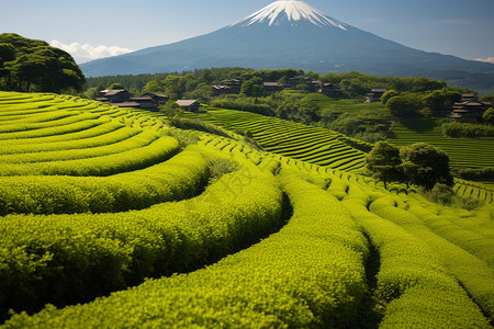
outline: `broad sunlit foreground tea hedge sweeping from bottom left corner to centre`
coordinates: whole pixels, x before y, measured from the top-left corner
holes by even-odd
[[[366,239],[325,191],[283,174],[294,215],[281,231],[210,268],[34,317],[8,328],[349,328],[367,292]],[[332,209],[327,212],[326,209]],[[104,315],[104,316],[102,316]]]

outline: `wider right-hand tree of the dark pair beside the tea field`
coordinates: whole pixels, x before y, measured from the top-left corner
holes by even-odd
[[[449,157],[441,149],[426,143],[402,147],[402,167],[407,180],[426,190],[436,183],[451,186],[453,179],[449,170]]]

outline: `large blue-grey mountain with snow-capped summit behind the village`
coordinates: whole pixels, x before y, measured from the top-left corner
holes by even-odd
[[[211,67],[295,68],[321,73],[357,70],[438,79],[445,79],[445,70],[494,72],[492,64],[426,53],[384,39],[303,1],[274,1],[205,35],[81,65],[88,77]]]

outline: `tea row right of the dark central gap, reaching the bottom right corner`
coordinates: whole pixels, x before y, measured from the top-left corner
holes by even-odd
[[[378,196],[379,197],[379,196]],[[374,310],[380,328],[490,328],[441,257],[426,242],[367,208],[372,195],[343,202],[379,253]]]

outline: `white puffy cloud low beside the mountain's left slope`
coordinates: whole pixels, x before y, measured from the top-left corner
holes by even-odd
[[[76,63],[81,64],[89,60],[94,60],[104,57],[117,56],[134,52],[127,48],[121,48],[117,46],[97,46],[81,45],[78,43],[72,43],[70,45],[65,45],[57,39],[49,43],[52,47],[64,49],[65,52],[72,55]]]

